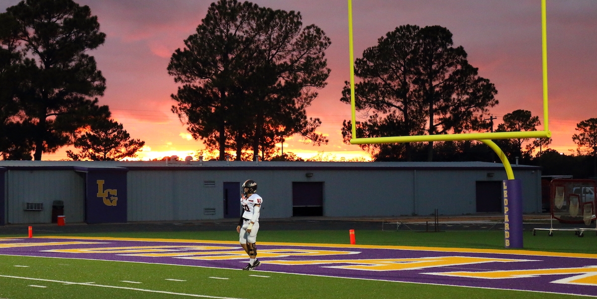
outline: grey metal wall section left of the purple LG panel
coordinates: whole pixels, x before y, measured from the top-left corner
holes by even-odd
[[[64,201],[67,222],[85,220],[85,180],[75,171],[7,171],[7,223],[51,223],[53,201]],[[43,211],[24,211],[26,202]]]

